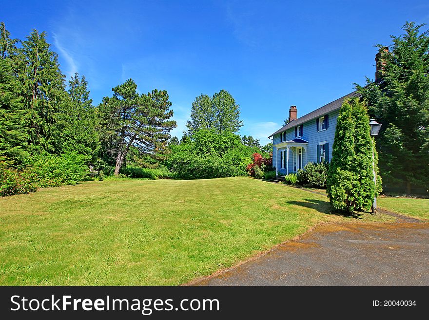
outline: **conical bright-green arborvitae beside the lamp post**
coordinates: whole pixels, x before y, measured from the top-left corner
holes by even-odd
[[[343,102],[327,178],[327,192],[334,209],[352,212],[371,207],[375,186],[369,120],[366,107],[359,99]],[[381,181],[378,184],[381,185]]]

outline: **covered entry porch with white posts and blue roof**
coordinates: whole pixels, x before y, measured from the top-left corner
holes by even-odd
[[[289,174],[303,169],[307,164],[307,146],[308,141],[304,139],[293,139],[280,142],[274,145],[275,156],[275,174]]]

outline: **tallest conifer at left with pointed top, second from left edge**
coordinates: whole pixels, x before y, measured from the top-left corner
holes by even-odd
[[[59,106],[66,97],[58,55],[46,42],[46,33],[33,30],[20,50],[20,81],[28,110],[28,143],[35,148],[60,151]]]

